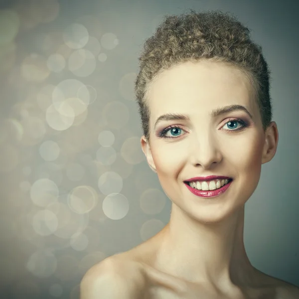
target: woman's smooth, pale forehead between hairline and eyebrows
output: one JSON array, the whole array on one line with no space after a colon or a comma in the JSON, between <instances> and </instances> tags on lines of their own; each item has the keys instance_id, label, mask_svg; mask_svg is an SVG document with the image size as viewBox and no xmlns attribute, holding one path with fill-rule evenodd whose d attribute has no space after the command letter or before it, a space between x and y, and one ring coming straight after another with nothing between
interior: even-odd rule
<instances>
[{"instance_id":1,"label":"woman's smooth, pale forehead between hairline and eyebrows","mask_svg":"<svg viewBox=\"0 0 299 299\"><path fill-rule=\"evenodd\" d=\"M163 71L153 80L148 100L150 122L163 113L208 114L231 104L254 113L253 88L241 71L210 61L185 62Z\"/></svg>"}]
</instances>

